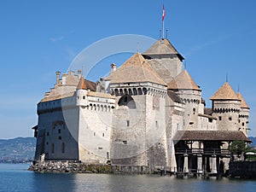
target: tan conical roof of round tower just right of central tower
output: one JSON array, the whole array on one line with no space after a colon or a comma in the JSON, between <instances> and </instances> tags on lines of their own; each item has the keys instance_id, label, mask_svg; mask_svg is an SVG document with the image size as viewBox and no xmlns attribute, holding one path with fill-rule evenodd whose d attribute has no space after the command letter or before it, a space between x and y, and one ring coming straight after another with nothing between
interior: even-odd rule
<instances>
[{"instance_id":1,"label":"tan conical roof of round tower just right of central tower","mask_svg":"<svg viewBox=\"0 0 256 192\"><path fill-rule=\"evenodd\" d=\"M172 79L167 88L168 90L201 90L187 70L184 70Z\"/></svg>"}]
</instances>

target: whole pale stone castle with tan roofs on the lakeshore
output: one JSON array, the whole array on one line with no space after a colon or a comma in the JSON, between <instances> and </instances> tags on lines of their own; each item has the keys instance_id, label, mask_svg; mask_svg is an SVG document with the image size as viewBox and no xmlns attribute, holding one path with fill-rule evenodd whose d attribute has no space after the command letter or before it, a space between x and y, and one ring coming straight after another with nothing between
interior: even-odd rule
<instances>
[{"instance_id":1,"label":"whole pale stone castle with tan roofs on the lakeshore","mask_svg":"<svg viewBox=\"0 0 256 192\"><path fill-rule=\"evenodd\" d=\"M228 169L230 143L249 142L249 107L225 82L205 107L183 56L159 39L94 83L56 73L38 103L35 160L170 167L172 172Z\"/></svg>"}]
</instances>

